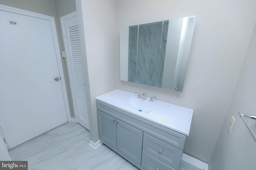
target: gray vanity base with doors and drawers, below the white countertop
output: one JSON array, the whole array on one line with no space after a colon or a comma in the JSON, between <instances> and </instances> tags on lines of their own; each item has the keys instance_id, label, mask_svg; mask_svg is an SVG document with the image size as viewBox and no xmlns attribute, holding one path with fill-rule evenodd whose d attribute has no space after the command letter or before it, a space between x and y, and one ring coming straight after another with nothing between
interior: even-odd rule
<instances>
[{"instance_id":1,"label":"gray vanity base with doors and drawers, below the white countertop","mask_svg":"<svg viewBox=\"0 0 256 170\"><path fill-rule=\"evenodd\" d=\"M96 102L102 145L141 170L179 169L186 135L99 100Z\"/></svg>"}]
</instances>

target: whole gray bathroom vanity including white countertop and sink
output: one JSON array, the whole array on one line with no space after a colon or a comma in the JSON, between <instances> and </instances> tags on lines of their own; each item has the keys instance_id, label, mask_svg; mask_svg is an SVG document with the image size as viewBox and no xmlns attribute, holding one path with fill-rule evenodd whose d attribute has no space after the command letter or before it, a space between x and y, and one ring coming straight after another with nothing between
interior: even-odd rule
<instances>
[{"instance_id":1,"label":"whole gray bathroom vanity including white countertop and sink","mask_svg":"<svg viewBox=\"0 0 256 170\"><path fill-rule=\"evenodd\" d=\"M100 143L139 169L178 170L193 110L114 90L96 98Z\"/></svg>"}]
</instances>

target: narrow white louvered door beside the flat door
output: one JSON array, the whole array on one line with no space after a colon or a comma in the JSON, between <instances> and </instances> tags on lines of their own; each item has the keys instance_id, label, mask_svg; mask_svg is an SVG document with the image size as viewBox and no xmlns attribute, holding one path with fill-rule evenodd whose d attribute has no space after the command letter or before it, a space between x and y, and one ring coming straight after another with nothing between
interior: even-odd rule
<instances>
[{"instance_id":1,"label":"narrow white louvered door beside the flat door","mask_svg":"<svg viewBox=\"0 0 256 170\"><path fill-rule=\"evenodd\" d=\"M72 12L60 19L62 23L65 52L68 61L68 73L74 112L78 123L90 130L76 12Z\"/></svg>"}]
</instances>

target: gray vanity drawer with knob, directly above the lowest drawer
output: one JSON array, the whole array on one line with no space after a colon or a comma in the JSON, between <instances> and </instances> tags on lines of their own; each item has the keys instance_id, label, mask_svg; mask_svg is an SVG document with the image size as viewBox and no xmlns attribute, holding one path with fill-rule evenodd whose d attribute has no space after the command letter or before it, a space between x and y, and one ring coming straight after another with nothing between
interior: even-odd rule
<instances>
[{"instance_id":1,"label":"gray vanity drawer with knob, directly above the lowest drawer","mask_svg":"<svg viewBox=\"0 0 256 170\"><path fill-rule=\"evenodd\" d=\"M182 150L155 137L152 137L147 133L143 134L142 150L175 169L179 169L180 167Z\"/></svg>"}]
</instances>

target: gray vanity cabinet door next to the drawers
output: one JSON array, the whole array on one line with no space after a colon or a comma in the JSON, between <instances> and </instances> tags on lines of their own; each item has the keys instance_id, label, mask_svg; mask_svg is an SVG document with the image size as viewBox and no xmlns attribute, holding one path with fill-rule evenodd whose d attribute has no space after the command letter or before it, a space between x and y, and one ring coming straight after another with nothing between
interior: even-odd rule
<instances>
[{"instance_id":1,"label":"gray vanity cabinet door next to the drawers","mask_svg":"<svg viewBox=\"0 0 256 170\"><path fill-rule=\"evenodd\" d=\"M140 164L143 132L120 120L116 121L117 149Z\"/></svg>"}]
</instances>

